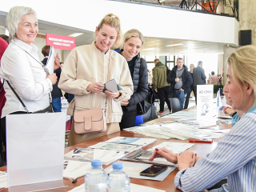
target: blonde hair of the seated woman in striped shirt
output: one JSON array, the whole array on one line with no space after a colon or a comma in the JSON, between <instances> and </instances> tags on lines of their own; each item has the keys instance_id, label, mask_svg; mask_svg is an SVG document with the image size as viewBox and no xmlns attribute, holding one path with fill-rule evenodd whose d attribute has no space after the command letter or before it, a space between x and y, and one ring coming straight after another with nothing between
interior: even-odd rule
<instances>
[{"instance_id":1,"label":"blonde hair of the seated woman in striped shirt","mask_svg":"<svg viewBox=\"0 0 256 192\"><path fill-rule=\"evenodd\" d=\"M228 58L231 74L242 90L242 86L248 83L253 87L256 97L256 46L242 46ZM243 92L242 92L243 94ZM256 100L254 99L254 103Z\"/></svg>"}]
</instances>

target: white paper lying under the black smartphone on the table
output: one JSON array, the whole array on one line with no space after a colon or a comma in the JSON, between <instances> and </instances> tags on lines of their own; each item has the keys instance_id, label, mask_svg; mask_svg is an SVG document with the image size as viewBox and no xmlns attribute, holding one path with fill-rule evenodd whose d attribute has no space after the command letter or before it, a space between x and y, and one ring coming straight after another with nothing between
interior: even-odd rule
<instances>
[{"instance_id":1,"label":"white paper lying under the black smartphone on the table","mask_svg":"<svg viewBox=\"0 0 256 192\"><path fill-rule=\"evenodd\" d=\"M122 170L130 177L130 178L142 178L147 180L154 180L154 181L162 181L164 180L168 174L170 174L175 167L174 166L168 166L167 170L162 172L161 174L158 174L156 177L146 177L146 176L140 176L139 173L142 172L142 170L146 170L148 167L152 166L151 164L143 164L138 162L122 162ZM113 170L112 166L107 167L106 173L110 174Z\"/></svg>"}]
</instances>

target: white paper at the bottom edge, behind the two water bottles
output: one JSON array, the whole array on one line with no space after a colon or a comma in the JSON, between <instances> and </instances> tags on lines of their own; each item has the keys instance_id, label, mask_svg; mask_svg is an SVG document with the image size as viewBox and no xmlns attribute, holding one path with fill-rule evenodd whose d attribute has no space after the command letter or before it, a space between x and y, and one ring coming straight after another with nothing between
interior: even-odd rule
<instances>
[{"instance_id":1,"label":"white paper at the bottom edge, behind the two water bottles","mask_svg":"<svg viewBox=\"0 0 256 192\"><path fill-rule=\"evenodd\" d=\"M149 186L140 186L134 183L130 183L130 191L131 192L165 192L166 190L157 190ZM68 192L86 192L86 186L83 183L81 186L75 187L73 190L69 190Z\"/></svg>"}]
</instances>

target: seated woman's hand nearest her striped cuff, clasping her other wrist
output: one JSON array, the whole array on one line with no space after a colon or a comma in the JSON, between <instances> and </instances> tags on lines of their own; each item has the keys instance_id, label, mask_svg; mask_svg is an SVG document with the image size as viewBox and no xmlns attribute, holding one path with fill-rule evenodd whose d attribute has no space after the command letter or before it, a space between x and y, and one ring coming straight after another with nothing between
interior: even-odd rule
<instances>
[{"instance_id":1,"label":"seated woman's hand nearest her striped cuff, clasping her other wrist","mask_svg":"<svg viewBox=\"0 0 256 192\"><path fill-rule=\"evenodd\" d=\"M179 170L194 166L194 163L196 162L196 157L197 154L194 154L193 152L188 150L182 152L182 154L177 154Z\"/></svg>"}]
</instances>

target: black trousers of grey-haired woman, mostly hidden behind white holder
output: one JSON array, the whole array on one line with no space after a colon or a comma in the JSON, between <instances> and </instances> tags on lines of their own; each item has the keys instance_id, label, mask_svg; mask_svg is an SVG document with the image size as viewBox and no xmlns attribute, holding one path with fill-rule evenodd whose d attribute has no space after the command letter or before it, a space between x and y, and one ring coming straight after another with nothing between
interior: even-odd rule
<instances>
[{"instance_id":1,"label":"black trousers of grey-haired woman, mostly hidden behind white holder","mask_svg":"<svg viewBox=\"0 0 256 192\"><path fill-rule=\"evenodd\" d=\"M12 114L26 114L25 111L17 111ZM1 154L1 161L0 166L4 166L2 162L2 144L6 148L6 117L1 118L1 130L0 130L0 154ZM6 150L7 151L7 150Z\"/></svg>"}]
</instances>

